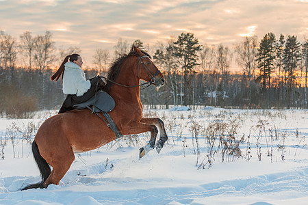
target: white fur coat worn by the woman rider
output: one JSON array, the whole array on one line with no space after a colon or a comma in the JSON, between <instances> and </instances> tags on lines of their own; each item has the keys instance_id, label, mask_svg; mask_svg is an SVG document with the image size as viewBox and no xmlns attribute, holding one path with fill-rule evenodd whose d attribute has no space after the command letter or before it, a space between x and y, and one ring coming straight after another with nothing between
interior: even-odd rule
<instances>
[{"instance_id":1,"label":"white fur coat worn by the woman rider","mask_svg":"<svg viewBox=\"0 0 308 205\"><path fill-rule=\"evenodd\" d=\"M69 61L64 64L63 74L63 93L64 94L76 94L76 96L82 96L87 92L90 87L90 81L86 80L86 74L84 70L77 64Z\"/></svg>"}]
</instances>

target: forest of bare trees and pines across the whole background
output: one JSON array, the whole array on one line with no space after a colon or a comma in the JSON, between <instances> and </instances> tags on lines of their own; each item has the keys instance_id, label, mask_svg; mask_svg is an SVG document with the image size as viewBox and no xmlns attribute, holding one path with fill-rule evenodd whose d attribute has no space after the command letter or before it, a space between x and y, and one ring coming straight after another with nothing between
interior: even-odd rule
<instances>
[{"instance_id":1,"label":"forest of bare trees and pines across the whole background","mask_svg":"<svg viewBox=\"0 0 308 205\"><path fill-rule=\"evenodd\" d=\"M57 48L53 33L18 38L0 30L0 114L27 118L32 111L59 109L65 98L61 81L49 80L62 59L81 53L78 47ZM86 78L106 76L112 62L129 53L131 45L149 53L166 78L166 85L141 90L151 108L172 105L241 109L307 109L308 39L266 33L246 36L233 46L199 44L194 33L159 42L118 39L114 51L96 49ZM231 71L231 65L238 71Z\"/></svg>"}]
</instances>

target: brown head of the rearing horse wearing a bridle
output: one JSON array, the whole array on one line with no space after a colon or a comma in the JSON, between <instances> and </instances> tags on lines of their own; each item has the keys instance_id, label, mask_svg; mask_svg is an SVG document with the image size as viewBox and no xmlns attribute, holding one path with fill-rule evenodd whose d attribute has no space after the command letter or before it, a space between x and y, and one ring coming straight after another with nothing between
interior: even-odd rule
<instances>
[{"instance_id":1,"label":"brown head of the rearing horse wearing a bridle","mask_svg":"<svg viewBox=\"0 0 308 205\"><path fill-rule=\"evenodd\" d=\"M149 55L142 53L136 46L133 46L133 50L138 54L138 68L136 70L138 79L150 82L155 87L164 85L164 75L158 70Z\"/></svg>"}]
</instances>

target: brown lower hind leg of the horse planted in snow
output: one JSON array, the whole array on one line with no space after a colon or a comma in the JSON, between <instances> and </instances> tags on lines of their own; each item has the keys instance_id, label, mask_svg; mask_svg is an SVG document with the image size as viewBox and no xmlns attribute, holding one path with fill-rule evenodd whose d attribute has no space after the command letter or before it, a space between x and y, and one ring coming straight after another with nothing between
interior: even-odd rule
<instances>
[{"instance_id":1,"label":"brown lower hind leg of the horse planted in snow","mask_svg":"<svg viewBox=\"0 0 308 205\"><path fill-rule=\"evenodd\" d=\"M53 159L51 159L51 162L49 163L51 167L53 167L53 170L44 182L44 187L48 187L49 184L58 185L74 160L75 155L73 150L62 154L54 153Z\"/></svg>"}]
</instances>

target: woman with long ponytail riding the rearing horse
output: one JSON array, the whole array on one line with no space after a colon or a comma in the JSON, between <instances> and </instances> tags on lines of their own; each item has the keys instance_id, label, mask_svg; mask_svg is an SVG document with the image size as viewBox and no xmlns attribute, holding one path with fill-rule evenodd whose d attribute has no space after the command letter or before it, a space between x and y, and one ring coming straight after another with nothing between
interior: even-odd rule
<instances>
[{"instance_id":1,"label":"woman with long ponytail riding the rearing horse","mask_svg":"<svg viewBox=\"0 0 308 205\"><path fill-rule=\"evenodd\" d=\"M76 53L68 55L57 72L50 78L51 81L57 81L62 77L62 90L67 95L59 113L72 110L73 105L88 100L97 91L99 76L86 80L86 74L81 69L82 64L80 55Z\"/></svg>"}]
</instances>

